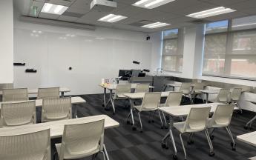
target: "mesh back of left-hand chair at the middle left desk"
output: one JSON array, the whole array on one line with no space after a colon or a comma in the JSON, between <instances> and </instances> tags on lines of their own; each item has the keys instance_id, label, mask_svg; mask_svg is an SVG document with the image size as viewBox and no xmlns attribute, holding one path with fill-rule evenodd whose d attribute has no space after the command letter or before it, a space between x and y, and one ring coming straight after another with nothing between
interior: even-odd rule
<instances>
[{"instance_id":1,"label":"mesh back of left-hand chair at the middle left desk","mask_svg":"<svg viewBox=\"0 0 256 160\"><path fill-rule=\"evenodd\" d=\"M1 124L13 127L36 123L36 101L1 104Z\"/></svg>"}]
</instances>

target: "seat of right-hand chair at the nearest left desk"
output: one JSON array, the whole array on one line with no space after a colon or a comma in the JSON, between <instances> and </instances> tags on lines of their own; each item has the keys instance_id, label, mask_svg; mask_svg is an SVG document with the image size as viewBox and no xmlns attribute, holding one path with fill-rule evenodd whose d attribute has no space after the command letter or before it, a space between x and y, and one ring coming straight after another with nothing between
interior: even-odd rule
<instances>
[{"instance_id":1,"label":"seat of right-hand chair at the nearest left desk","mask_svg":"<svg viewBox=\"0 0 256 160\"><path fill-rule=\"evenodd\" d=\"M61 148L62 144L61 143L55 144L55 146L56 146L57 153L59 155L60 154L60 148ZM100 150L100 147L98 146L98 147L96 147L96 149L85 150L83 153L80 153L80 154L76 153L75 156L70 154L69 152L65 151L64 159L80 159L80 158L84 158L86 156L91 156L91 155L93 155L95 153L98 153L99 150Z\"/></svg>"}]
</instances>

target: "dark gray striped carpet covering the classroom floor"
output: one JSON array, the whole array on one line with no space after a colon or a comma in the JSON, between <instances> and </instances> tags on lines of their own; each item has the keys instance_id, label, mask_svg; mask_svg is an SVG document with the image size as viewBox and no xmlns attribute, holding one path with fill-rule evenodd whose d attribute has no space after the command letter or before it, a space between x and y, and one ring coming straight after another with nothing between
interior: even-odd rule
<instances>
[{"instance_id":1,"label":"dark gray striped carpet covering the classroom floor","mask_svg":"<svg viewBox=\"0 0 256 160\"><path fill-rule=\"evenodd\" d=\"M167 129L160 129L160 119L155 116L155 122L148 123L148 113L142 113L143 133L139 130L131 130L131 125L126 124L126 116L128 116L129 109L125 107L123 101L116 102L116 115L112 115L112 110L106 111L102 107L102 95L85 95L82 96L87 101L86 104L80 104L78 107L78 116L93 116L99 114L106 114L120 123L119 127L105 130L105 146L111 160L167 160L172 159L174 153L171 143L169 149L161 147L161 139L168 132ZM185 102L186 103L186 102ZM200 103L200 101L196 101ZM251 132L251 130L244 130L243 125L254 116L253 113L244 112L243 115L234 113L232 118L231 130L233 136ZM135 115L137 126L139 121ZM177 119L178 121L178 119ZM255 130L256 126L253 126ZM252 156L256 156L256 147L236 141L237 150L233 151L230 146L231 140L226 130L219 129L214 131L214 157L210 157L209 145L206 136L203 133L194 134L194 144L188 145L186 139L188 135L183 136L185 141L188 159L190 160L243 160ZM183 149L180 143L177 130L174 130L174 139L177 144L178 159L184 159ZM90 158L91 159L91 158ZM97 159L102 159L99 154Z\"/></svg>"}]
</instances>

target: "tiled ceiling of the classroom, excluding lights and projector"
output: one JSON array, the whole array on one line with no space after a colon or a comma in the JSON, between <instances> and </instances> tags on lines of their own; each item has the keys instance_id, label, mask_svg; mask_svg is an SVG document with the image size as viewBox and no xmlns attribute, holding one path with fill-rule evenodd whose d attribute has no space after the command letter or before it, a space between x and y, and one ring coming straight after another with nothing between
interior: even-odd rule
<instances>
[{"instance_id":1,"label":"tiled ceiling of the classroom, excluding lights and projector","mask_svg":"<svg viewBox=\"0 0 256 160\"><path fill-rule=\"evenodd\" d=\"M70 21L75 23L93 24L96 26L114 27L142 32L155 32L158 30L166 30L191 25L193 24L191 21L196 19L186 17L186 15L201 10L208 10L213 7L230 7L237 10L237 12L226 13L220 16L212 16L203 20L218 21L223 19L256 15L256 0L176 0L151 10L141 7L134 7L131 5L137 1L139 0L116 0L117 8L108 13L90 10L91 0L15 0L14 5L19 9L23 16L33 16L31 7L37 6L39 12L36 13L36 17L42 19ZM45 2L61 4L68 6L69 8L65 13L63 13L62 16L53 15L50 13L40 13ZM109 13L127 16L128 18L123 19L122 21L116 21L115 23L97 21ZM170 23L171 26L147 29L132 25L142 20Z\"/></svg>"}]
</instances>

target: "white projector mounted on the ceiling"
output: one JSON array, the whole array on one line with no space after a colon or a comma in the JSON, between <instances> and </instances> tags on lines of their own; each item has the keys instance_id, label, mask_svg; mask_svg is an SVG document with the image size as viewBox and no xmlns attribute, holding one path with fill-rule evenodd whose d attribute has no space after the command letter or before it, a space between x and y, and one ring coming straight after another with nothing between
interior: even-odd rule
<instances>
[{"instance_id":1,"label":"white projector mounted on the ceiling","mask_svg":"<svg viewBox=\"0 0 256 160\"><path fill-rule=\"evenodd\" d=\"M113 0L93 0L91 1L91 10L99 12L109 12L116 8L116 1Z\"/></svg>"}]
</instances>

